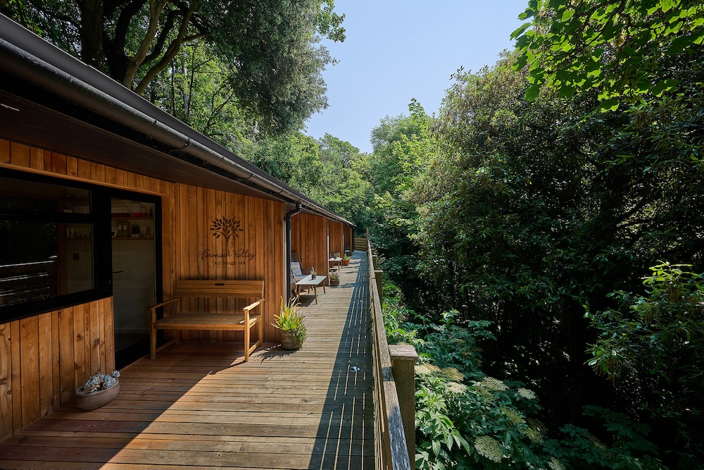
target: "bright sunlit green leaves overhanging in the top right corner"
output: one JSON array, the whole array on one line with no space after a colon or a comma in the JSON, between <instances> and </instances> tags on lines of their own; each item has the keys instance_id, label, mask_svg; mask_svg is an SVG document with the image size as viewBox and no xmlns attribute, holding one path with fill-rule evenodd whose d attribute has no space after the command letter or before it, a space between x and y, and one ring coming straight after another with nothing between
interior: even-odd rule
<instances>
[{"instance_id":1,"label":"bright sunlit green leaves overhanging in the top right corner","mask_svg":"<svg viewBox=\"0 0 704 470\"><path fill-rule=\"evenodd\" d=\"M679 91L661 63L697 60L704 39L704 4L698 0L534 0L513 32L527 68L532 101L541 87L560 97L596 89L602 110L620 101Z\"/></svg>"}]
</instances>

